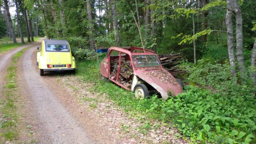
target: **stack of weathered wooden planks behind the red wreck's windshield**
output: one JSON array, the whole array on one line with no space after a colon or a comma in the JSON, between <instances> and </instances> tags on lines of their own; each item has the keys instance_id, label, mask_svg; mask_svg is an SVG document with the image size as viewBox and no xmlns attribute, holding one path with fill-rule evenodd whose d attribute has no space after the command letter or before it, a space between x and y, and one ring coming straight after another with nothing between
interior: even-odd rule
<instances>
[{"instance_id":1,"label":"stack of weathered wooden planks behind the red wreck's windshield","mask_svg":"<svg viewBox=\"0 0 256 144\"><path fill-rule=\"evenodd\" d=\"M180 53L177 54L159 54L157 55L160 63L163 68L170 72L172 75L176 75L177 73L186 72L182 70L177 65L180 64L183 58L180 56Z\"/></svg>"}]
</instances>

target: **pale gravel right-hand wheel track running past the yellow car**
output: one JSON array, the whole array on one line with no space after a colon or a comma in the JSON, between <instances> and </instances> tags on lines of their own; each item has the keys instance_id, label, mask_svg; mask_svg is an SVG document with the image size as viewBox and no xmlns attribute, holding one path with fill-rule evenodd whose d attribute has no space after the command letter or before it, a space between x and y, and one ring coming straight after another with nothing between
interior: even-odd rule
<instances>
[{"instance_id":1,"label":"pale gravel right-hand wheel track running past the yellow car","mask_svg":"<svg viewBox=\"0 0 256 144\"><path fill-rule=\"evenodd\" d=\"M35 112L41 124L44 124L42 142L58 144L95 143L87 136L72 114L56 98L52 91L62 91L55 87L48 87L35 68L36 61L32 60L35 49L39 44L24 52L22 57L21 77L26 86L26 94L32 99Z\"/></svg>"}]
</instances>

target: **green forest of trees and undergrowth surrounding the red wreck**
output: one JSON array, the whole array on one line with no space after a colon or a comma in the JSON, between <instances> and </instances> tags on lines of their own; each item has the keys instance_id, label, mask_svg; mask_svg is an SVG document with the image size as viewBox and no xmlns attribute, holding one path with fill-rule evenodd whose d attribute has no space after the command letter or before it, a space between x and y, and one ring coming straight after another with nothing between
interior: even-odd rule
<instances>
[{"instance_id":1,"label":"green forest of trees and undergrowth surrounding the red wreck","mask_svg":"<svg viewBox=\"0 0 256 144\"><path fill-rule=\"evenodd\" d=\"M96 69L102 54L95 49L110 46L181 53L182 94L167 101L113 100L169 122L192 143L256 142L255 0L0 0L0 6L0 39L67 40L81 68ZM106 92L103 87L95 89Z\"/></svg>"}]
</instances>

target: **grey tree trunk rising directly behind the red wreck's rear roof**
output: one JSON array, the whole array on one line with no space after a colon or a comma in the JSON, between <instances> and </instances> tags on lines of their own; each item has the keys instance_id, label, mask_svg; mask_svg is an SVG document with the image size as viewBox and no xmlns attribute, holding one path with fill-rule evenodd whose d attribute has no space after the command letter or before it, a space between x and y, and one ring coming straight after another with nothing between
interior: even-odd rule
<instances>
[{"instance_id":1,"label":"grey tree trunk rising directly behind the red wreck's rear roof","mask_svg":"<svg viewBox=\"0 0 256 144\"><path fill-rule=\"evenodd\" d=\"M120 46L115 0L111 0L111 8L112 8L113 28L115 33L115 42L116 42L116 46Z\"/></svg>"}]
</instances>

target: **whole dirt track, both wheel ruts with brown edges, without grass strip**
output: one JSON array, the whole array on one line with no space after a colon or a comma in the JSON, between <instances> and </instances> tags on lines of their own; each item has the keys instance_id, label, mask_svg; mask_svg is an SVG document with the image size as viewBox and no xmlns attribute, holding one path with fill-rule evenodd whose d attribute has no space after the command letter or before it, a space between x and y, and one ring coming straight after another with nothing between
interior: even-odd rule
<instances>
[{"instance_id":1,"label":"whole dirt track, both wheel ruts with brown edges, without grass strip","mask_svg":"<svg viewBox=\"0 0 256 144\"><path fill-rule=\"evenodd\" d=\"M1 63L5 65L0 67L0 90L2 91L3 77L12 56L21 49L29 47L20 58L17 69L19 93L25 105L21 113L24 115L22 121L26 124L21 125L31 126L34 132L32 136L40 144L120 143L116 138L106 135L96 123L86 125L89 117L84 117L85 115L81 115L80 112L77 112L80 114L77 115L79 103L75 100L76 98L71 99L69 93L57 84L56 74L43 77L39 75L35 55L36 48L40 44L27 44L0 56ZM95 132L95 129L98 129L99 133ZM23 139L21 141L28 142L26 134L22 132L20 138Z\"/></svg>"}]
</instances>

